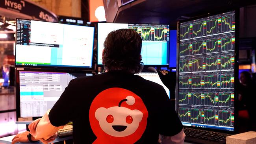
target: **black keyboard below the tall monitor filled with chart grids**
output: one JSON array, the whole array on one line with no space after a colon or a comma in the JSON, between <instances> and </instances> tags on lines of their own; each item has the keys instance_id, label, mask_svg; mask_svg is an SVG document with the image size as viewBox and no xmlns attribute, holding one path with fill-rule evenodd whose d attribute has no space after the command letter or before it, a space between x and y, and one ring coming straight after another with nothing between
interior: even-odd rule
<instances>
[{"instance_id":1,"label":"black keyboard below the tall monitor filled with chart grids","mask_svg":"<svg viewBox=\"0 0 256 144\"><path fill-rule=\"evenodd\" d=\"M226 144L226 137L230 136L225 133L206 131L184 127L186 134L185 141L196 142L199 144Z\"/></svg>"}]
</instances>

